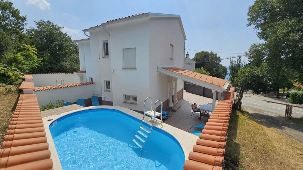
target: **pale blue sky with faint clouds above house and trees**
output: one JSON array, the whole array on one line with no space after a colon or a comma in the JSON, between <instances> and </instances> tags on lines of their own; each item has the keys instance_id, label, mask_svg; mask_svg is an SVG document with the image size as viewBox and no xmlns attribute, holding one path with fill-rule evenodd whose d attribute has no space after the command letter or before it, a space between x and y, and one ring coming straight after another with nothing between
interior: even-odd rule
<instances>
[{"instance_id":1,"label":"pale blue sky with faint clouds above house and trees","mask_svg":"<svg viewBox=\"0 0 303 170\"><path fill-rule=\"evenodd\" d=\"M27 16L27 27L34 20L51 20L65 27L72 39L87 38L82 30L108 20L143 12L179 14L187 37L185 50L190 58L197 51L217 52L222 59L248 51L252 43L261 42L253 27L247 27L247 10L253 0L11 0ZM223 52L223 53L218 53ZM243 55L243 54L240 54ZM242 59L246 60L245 57ZM229 65L229 59L221 64Z\"/></svg>"}]
</instances>

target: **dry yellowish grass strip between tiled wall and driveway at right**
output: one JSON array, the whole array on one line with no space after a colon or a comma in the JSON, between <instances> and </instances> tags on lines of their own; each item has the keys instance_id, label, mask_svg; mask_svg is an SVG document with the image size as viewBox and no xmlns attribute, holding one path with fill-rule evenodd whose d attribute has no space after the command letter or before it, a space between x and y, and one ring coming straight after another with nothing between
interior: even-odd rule
<instances>
[{"instance_id":1,"label":"dry yellowish grass strip between tiled wall and driveway at right","mask_svg":"<svg viewBox=\"0 0 303 170\"><path fill-rule=\"evenodd\" d=\"M303 143L233 111L228 129L225 169L303 169Z\"/></svg>"}]
</instances>

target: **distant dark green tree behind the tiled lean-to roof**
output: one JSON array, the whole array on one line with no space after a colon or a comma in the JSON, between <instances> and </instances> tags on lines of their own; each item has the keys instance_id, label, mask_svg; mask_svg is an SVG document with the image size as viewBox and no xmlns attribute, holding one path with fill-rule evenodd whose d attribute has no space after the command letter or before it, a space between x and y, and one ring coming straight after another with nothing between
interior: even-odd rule
<instances>
[{"instance_id":1,"label":"distant dark green tree behind the tiled lean-to roof","mask_svg":"<svg viewBox=\"0 0 303 170\"><path fill-rule=\"evenodd\" d=\"M220 64L221 58L217 54L201 51L195 54L193 60L196 62L196 68L204 68L211 76L225 79L227 68Z\"/></svg>"}]
</instances>

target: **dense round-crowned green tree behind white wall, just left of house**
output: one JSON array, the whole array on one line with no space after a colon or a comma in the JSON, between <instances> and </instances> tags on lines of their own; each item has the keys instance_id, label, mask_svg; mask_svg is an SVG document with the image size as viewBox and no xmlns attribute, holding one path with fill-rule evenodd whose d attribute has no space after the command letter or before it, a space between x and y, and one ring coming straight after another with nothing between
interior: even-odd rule
<instances>
[{"instance_id":1,"label":"dense round-crowned green tree behind white wall, just left of house","mask_svg":"<svg viewBox=\"0 0 303 170\"><path fill-rule=\"evenodd\" d=\"M38 73L43 72L75 72L79 70L78 48L72 42L70 36L63 33L63 27L52 23L51 21L35 21L36 27L30 27L26 30L31 38L31 44L35 44L38 52L38 58L42 59L42 67ZM75 67L72 67L75 66Z\"/></svg>"}]
</instances>

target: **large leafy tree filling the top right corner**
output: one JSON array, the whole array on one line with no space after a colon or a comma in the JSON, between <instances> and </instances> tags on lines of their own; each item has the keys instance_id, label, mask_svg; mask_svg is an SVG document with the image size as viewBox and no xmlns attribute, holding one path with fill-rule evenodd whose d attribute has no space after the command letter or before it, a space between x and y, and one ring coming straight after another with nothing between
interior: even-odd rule
<instances>
[{"instance_id":1,"label":"large leafy tree filling the top right corner","mask_svg":"<svg viewBox=\"0 0 303 170\"><path fill-rule=\"evenodd\" d=\"M303 82L303 1L256 0L248 9L248 26L254 29L267 50L266 63L276 69L299 73Z\"/></svg>"}]
</instances>

